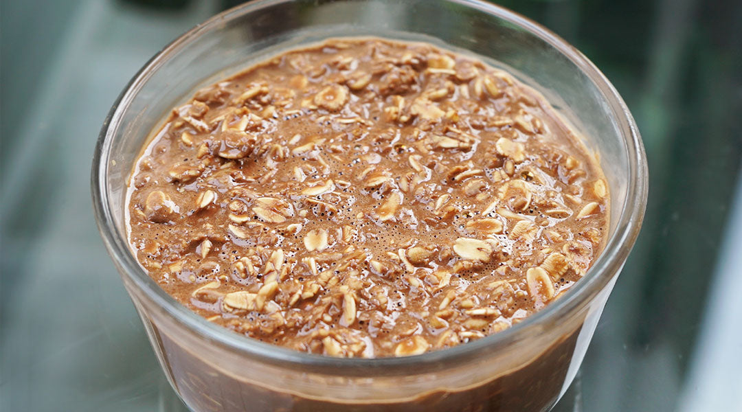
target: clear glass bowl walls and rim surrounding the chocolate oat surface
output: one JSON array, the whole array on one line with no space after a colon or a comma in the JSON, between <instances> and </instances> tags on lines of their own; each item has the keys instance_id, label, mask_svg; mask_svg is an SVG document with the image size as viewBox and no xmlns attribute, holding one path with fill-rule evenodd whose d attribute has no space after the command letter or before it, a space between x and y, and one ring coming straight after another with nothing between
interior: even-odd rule
<instances>
[{"instance_id":1,"label":"clear glass bowl walls and rim surrounding the chocolate oat surface","mask_svg":"<svg viewBox=\"0 0 742 412\"><path fill-rule=\"evenodd\" d=\"M168 110L282 50L330 37L428 41L539 90L597 153L611 191L608 242L568 293L508 330L418 356L337 359L258 342L168 296L128 246L134 162ZM96 221L162 369L193 411L545 411L580 367L640 230L647 196L631 113L597 68L554 33L480 1L266 0L194 27L139 70L105 119L92 172Z\"/></svg>"}]
</instances>

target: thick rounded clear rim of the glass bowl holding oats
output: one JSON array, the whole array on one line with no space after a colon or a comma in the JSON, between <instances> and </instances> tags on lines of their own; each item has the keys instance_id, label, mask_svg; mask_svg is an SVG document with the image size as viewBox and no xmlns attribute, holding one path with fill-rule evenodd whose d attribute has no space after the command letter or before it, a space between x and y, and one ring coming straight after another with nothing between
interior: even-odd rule
<instances>
[{"instance_id":1,"label":"thick rounded clear rim of the glass bowl holding oats","mask_svg":"<svg viewBox=\"0 0 742 412\"><path fill-rule=\"evenodd\" d=\"M605 285L612 279L614 273L618 273L626 262L626 257L634 246L634 242L640 231L641 222L646 207L648 193L648 170L646 155L637 125L631 113L623 102L613 85L608 82L603 73L590 62L580 51L568 44L551 30L531 21L524 16L507 10L494 4L487 4L479 0L439 0L439 3L453 3L464 7L478 10L496 16L499 19L510 22L517 27L528 30L531 34L539 37L552 47L559 50L568 59L591 79L591 82L600 90L608 102L611 112L615 117L618 128L623 136L624 149L628 158L628 186L626 199L623 202L616 229L608 242L605 244L603 253L594 262L585 276L577 282L568 293L560 299L547 305L544 309L528 316L523 322L513 325L493 335L485 336L474 342L456 345L453 348L436 350L416 356L387 357L375 359L360 358L334 358L330 356L303 353L298 350L283 348L260 342L247 336L234 333L232 330L214 325L196 313L192 312L180 302L172 298L165 290L162 290L157 282L145 273L145 270L134 258L134 254L128 245L128 240L120 236L115 230L114 213L111 210L108 194L108 165L110 164L111 145L120 127L123 113L126 112L131 100L137 91L149 79L151 73L160 67L173 53L188 47L188 44L197 39L202 33L206 33L215 27L224 24L225 21L238 19L248 13L254 13L266 7L275 7L286 4L292 0L257 0L226 10L211 19L198 24L178 37L171 44L164 47L160 53L153 56L125 87L118 99L111 107L108 116L103 123L96 150L93 156L92 167L92 195L93 209L99 232L112 259L122 270L122 276L126 276L137 288L142 290L148 299L151 299L162 310L182 324L185 328L209 339L211 342L219 343L223 347L236 350L244 356L257 359L258 362L269 362L278 365L293 364L303 368L311 367L318 373L332 373L334 375L356 375L368 374L374 371L375 375L393 375L398 373L409 374L411 371L422 373L443 368L443 362L464 361L476 356L482 350L492 350L513 342L518 342L528 333L534 333L542 325L554 322L558 316L571 313L584 307ZM414 369L410 369L414 368Z\"/></svg>"}]
</instances>

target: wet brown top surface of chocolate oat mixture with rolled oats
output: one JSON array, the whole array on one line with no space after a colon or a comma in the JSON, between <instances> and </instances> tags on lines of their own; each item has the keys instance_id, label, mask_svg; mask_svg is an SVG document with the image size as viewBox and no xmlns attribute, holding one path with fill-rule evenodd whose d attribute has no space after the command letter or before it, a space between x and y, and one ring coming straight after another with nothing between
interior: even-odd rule
<instances>
[{"instance_id":1,"label":"wet brown top surface of chocolate oat mixture with rolled oats","mask_svg":"<svg viewBox=\"0 0 742 412\"><path fill-rule=\"evenodd\" d=\"M542 96L430 44L335 39L199 90L131 180L137 259L226 328L405 356L510 327L577 282L603 173Z\"/></svg>"}]
</instances>

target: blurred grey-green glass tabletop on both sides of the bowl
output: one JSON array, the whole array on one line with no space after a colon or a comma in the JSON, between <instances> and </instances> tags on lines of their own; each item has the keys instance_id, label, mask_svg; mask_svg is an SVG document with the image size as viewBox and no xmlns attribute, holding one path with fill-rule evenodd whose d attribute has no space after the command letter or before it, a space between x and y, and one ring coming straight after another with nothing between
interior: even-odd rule
<instances>
[{"instance_id":1,"label":"blurred grey-green glass tabletop on both sides of the bowl","mask_svg":"<svg viewBox=\"0 0 742 412\"><path fill-rule=\"evenodd\" d=\"M650 168L640 239L555 411L742 411L742 3L512 0L611 79ZM0 3L0 411L185 411L93 222L131 76L232 1Z\"/></svg>"}]
</instances>

